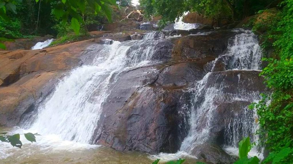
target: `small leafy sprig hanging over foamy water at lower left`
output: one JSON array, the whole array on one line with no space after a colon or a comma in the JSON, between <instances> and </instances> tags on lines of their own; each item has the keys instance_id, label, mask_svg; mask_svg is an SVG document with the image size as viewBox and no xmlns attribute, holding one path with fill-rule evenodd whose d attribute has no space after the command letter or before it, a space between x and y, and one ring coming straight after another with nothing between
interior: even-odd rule
<instances>
[{"instance_id":1,"label":"small leafy sprig hanging over foamy water at lower left","mask_svg":"<svg viewBox=\"0 0 293 164\"><path fill-rule=\"evenodd\" d=\"M0 133L0 141L1 142L8 142L10 143L13 147L18 147L21 148L22 142L20 141L20 134L14 134L14 135L6 135L7 132L2 132ZM38 133L25 133L23 134L25 138L30 141L30 142L36 142L36 135L39 135Z\"/></svg>"}]
</instances>

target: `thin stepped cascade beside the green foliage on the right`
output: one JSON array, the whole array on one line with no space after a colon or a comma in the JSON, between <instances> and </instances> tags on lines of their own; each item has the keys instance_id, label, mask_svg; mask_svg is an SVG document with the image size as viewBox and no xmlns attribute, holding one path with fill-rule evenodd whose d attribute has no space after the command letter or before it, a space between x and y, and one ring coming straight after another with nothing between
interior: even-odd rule
<instances>
[{"instance_id":1,"label":"thin stepped cascade beside the green foliage on the right","mask_svg":"<svg viewBox=\"0 0 293 164\"><path fill-rule=\"evenodd\" d=\"M260 69L262 53L258 45L257 36L251 31L242 30L242 32L230 39L227 52L216 59L213 64L217 60L223 57L227 59L227 56L229 56L228 60L224 61L228 70ZM197 87L194 88L193 109L190 116L191 128L181 145L180 151L191 153L195 146L207 141L212 128L211 122L214 118L215 109L217 109L218 104L221 102L253 102L260 99L259 93L246 93L242 90L239 90L237 94L227 95L224 93L224 89L227 86L223 82L219 85L207 86L211 74L212 72L207 73L201 81L197 82ZM238 78L240 81L240 74L238 74ZM213 102L217 102L217 104ZM243 111L245 114L231 120L229 127L225 129L225 140L227 141L225 146L232 147L234 150L237 150L238 143L243 136L255 136L252 137L252 141L255 142L257 140L257 135L254 135L258 128L255 123L257 114L255 111L252 111L253 114L251 114L247 106L243 107Z\"/></svg>"}]
</instances>

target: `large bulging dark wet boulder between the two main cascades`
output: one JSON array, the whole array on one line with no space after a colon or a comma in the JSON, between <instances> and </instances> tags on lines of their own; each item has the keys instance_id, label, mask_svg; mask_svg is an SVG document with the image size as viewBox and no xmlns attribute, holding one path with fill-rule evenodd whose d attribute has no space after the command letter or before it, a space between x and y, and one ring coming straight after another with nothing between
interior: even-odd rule
<instances>
[{"instance_id":1,"label":"large bulging dark wet boulder between the two main cascades","mask_svg":"<svg viewBox=\"0 0 293 164\"><path fill-rule=\"evenodd\" d=\"M154 85L163 69L142 67L120 73L109 103L103 106L94 143L149 153L179 149L188 132L184 106L190 95L182 90L185 86Z\"/></svg>"}]
</instances>

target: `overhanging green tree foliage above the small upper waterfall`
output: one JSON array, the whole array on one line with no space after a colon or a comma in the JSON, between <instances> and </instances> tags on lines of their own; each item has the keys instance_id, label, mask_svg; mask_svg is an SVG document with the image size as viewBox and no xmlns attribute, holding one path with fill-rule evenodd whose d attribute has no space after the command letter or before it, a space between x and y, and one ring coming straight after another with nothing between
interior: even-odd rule
<instances>
[{"instance_id":1,"label":"overhanging green tree foliage above the small upper waterfall","mask_svg":"<svg viewBox=\"0 0 293 164\"><path fill-rule=\"evenodd\" d=\"M160 26L174 22L185 11L195 11L213 18L221 24L222 20L240 20L254 14L273 0L140 0L146 18L161 15Z\"/></svg>"}]
</instances>

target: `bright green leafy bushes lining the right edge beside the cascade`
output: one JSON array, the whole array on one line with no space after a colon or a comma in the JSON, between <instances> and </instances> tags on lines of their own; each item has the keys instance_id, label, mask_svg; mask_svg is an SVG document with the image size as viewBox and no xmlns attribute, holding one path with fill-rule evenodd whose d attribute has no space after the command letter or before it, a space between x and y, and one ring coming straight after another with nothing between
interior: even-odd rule
<instances>
[{"instance_id":1,"label":"bright green leafy bushes lining the right edge beside the cascade","mask_svg":"<svg viewBox=\"0 0 293 164\"><path fill-rule=\"evenodd\" d=\"M265 50L274 50L265 54L268 65L260 74L272 94L262 94L262 100L251 105L259 116L260 142L271 152L286 151L283 147L293 138L293 0L283 1L279 11L254 23L253 31L260 34ZM293 153L276 163L293 163Z\"/></svg>"}]
</instances>

